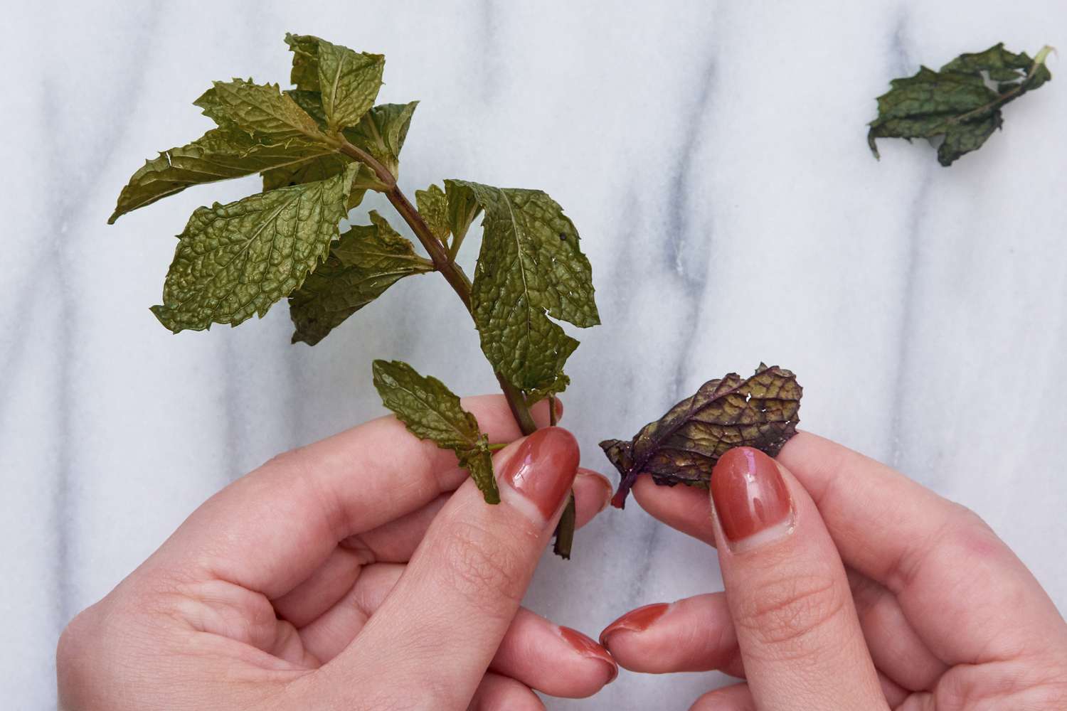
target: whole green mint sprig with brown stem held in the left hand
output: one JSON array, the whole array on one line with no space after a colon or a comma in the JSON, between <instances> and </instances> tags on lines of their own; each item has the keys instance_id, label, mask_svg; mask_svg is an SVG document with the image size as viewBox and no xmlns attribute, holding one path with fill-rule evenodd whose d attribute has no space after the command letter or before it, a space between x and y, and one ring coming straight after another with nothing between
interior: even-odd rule
<instances>
[{"instance_id":1,"label":"whole green mint sprig with brown stem held in the left hand","mask_svg":"<svg viewBox=\"0 0 1067 711\"><path fill-rule=\"evenodd\" d=\"M293 88L234 79L196 101L217 128L146 161L122 190L109 223L201 183L262 176L262 192L193 212L153 307L174 333L236 326L288 298L293 342L314 345L400 279L437 272L471 312L482 352L525 434L529 406L561 391L578 342L556 321L600 323L589 261L562 209L536 190L445 180L416 192L397 184L417 101L375 106L385 59L310 35L286 35ZM385 195L427 257L376 212L339 232L366 191ZM471 279L456 262L479 215L483 239ZM456 452L485 500L499 501L492 448L444 384L400 361L375 361L384 404L416 436ZM570 556L573 497L556 536Z\"/></svg>"}]
</instances>

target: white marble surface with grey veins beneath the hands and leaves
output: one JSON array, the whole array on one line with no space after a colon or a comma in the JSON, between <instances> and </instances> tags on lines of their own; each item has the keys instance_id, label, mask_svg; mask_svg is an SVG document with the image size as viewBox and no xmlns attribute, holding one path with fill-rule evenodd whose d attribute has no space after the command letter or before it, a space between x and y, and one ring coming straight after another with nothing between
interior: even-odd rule
<instances>
[{"instance_id":1,"label":"white marble surface with grey veins beneath the hands and leaves","mask_svg":"<svg viewBox=\"0 0 1067 711\"><path fill-rule=\"evenodd\" d=\"M566 398L586 465L607 471L599 439L706 377L777 362L805 386L802 426L975 508L1067 608L1067 84L1053 59L1056 80L949 169L927 145L886 141L876 162L864 144L889 78L998 41L1067 46L1067 5L299 4L3 12L4 708L53 706L63 625L203 499L381 414L372 358L493 389L431 278L315 349L289 345L284 307L178 337L148 312L188 214L255 180L108 227L115 195L145 157L202 132L189 102L210 79L284 80L286 30L383 52L382 98L421 99L404 188L537 187L574 220L604 320L579 335ZM546 556L528 603L595 633L718 585L713 551L632 505L580 532L570 564ZM685 708L720 681L623 672L590 701L550 707Z\"/></svg>"}]
</instances>

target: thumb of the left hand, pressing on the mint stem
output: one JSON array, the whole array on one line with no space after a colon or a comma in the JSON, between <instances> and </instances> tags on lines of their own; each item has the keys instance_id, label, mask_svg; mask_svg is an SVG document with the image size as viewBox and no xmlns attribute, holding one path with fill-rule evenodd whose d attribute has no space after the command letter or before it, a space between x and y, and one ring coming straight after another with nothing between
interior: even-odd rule
<instances>
[{"instance_id":1,"label":"thumb of the left hand, pressing on the mint stem","mask_svg":"<svg viewBox=\"0 0 1067 711\"><path fill-rule=\"evenodd\" d=\"M526 592L578 466L574 436L545 427L496 454L500 503L466 481L333 672L403 690L412 708L466 708ZM331 684L332 685L332 684ZM366 689L347 684L366 701Z\"/></svg>"}]
</instances>

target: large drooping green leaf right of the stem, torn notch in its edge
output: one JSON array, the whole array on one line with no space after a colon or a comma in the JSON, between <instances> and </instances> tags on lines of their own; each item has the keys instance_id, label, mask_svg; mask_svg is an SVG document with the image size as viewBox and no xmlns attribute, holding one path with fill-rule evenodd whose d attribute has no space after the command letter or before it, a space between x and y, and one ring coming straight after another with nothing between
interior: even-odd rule
<instances>
[{"instance_id":1,"label":"large drooping green leaf right of the stem, torn notch in its edge","mask_svg":"<svg viewBox=\"0 0 1067 711\"><path fill-rule=\"evenodd\" d=\"M580 327L600 323L577 230L538 190L446 180L445 191L449 215L459 215L453 233L477 214L472 206L485 213L471 292L482 351L524 392L552 388L578 342L548 317Z\"/></svg>"}]
</instances>

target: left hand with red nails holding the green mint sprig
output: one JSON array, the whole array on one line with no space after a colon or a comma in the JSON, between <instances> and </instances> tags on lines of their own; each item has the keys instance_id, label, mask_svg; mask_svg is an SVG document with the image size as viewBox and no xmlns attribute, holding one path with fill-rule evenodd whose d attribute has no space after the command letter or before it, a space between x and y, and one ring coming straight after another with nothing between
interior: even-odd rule
<instances>
[{"instance_id":1,"label":"left hand with red nails holding the green mint sprig","mask_svg":"<svg viewBox=\"0 0 1067 711\"><path fill-rule=\"evenodd\" d=\"M491 441L520 436L503 398L464 407ZM595 693L611 658L519 604L572 482L578 526L610 497L577 464L558 427L512 442L491 506L392 417L275 457L70 623L61 708L541 709L530 689Z\"/></svg>"}]
</instances>

